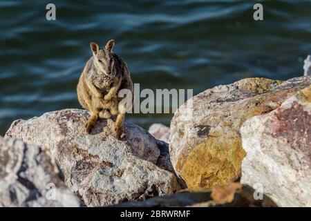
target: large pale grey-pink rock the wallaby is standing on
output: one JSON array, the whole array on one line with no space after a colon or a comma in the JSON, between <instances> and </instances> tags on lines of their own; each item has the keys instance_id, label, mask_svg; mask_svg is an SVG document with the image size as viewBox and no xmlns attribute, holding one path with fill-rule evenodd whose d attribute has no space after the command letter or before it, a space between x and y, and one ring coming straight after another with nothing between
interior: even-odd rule
<instances>
[{"instance_id":1,"label":"large pale grey-pink rock the wallaby is standing on","mask_svg":"<svg viewBox=\"0 0 311 221\"><path fill-rule=\"evenodd\" d=\"M114 137L112 119L86 133L87 111L66 109L12 123L6 136L47 148L64 173L67 186L86 206L106 206L171 194L176 177L157 162L161 151L147 131L125 123L125 140Z\"/></svg>"}]
</instances>

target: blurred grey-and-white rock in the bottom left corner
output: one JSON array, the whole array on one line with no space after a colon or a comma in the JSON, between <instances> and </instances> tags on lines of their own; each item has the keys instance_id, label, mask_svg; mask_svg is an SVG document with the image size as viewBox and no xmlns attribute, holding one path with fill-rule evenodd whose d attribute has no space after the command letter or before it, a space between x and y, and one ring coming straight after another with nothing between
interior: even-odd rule
<instances>
[{"instance_id":1,"label":"blurred grey-and-white rock in the bottom left corner","mask_svg":"<svg viewBox=\"0 0 311 221\"><path fill-rule=\"evenodd\" d=\"M38 146L0 137L0 206L79 206Z\"/></svg>"}]
</instances>

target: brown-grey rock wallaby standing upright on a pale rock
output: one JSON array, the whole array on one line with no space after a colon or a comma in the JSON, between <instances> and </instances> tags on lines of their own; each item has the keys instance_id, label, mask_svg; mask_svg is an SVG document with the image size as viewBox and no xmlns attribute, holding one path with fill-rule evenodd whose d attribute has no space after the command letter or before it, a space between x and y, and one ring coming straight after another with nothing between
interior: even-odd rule
<instances>
[{"instance_id":1,"label":"brown-grey rock wallaby standing upright on a pale rock","mask_svg":"<svg viewBox=\"0 0 311 221\"><path fill-rule=\"evenodd\" d=\"M79 77L77 97L83 108L91 112L86 123L86 131L91 133L97 119L115 119L115 137L123 137L125 112L131 108L133 102L133 82L125 62L112 52L115 41L111 39L104 48L91 42L93 56L88 59L86 66ZM131 102L121 105L122 97L118 93L122 89L129 89ZM120 104L120 105L119 105Z\"/></svg>"}]
</instances>

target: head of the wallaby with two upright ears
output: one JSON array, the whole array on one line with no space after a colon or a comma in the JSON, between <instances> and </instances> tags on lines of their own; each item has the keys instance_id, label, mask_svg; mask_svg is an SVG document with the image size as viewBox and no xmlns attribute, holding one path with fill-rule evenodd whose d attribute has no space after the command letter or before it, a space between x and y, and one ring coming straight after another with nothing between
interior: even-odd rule
<instances>
[{"instance_id":1,"label":"head of the wallaby with two upright ears","mask_svg":"<svg viewBox=\"0 0 311 221\"><path fill-rule=\"evenodd\" d=\"M113 39L109 40L104 48L100 48L95 42L90 43L94 57L93 63L97 69L97 73L102 75L112 74L115 66L112 52L113 46L115 46L115 40Z\"/></svg>"}]
</instances>

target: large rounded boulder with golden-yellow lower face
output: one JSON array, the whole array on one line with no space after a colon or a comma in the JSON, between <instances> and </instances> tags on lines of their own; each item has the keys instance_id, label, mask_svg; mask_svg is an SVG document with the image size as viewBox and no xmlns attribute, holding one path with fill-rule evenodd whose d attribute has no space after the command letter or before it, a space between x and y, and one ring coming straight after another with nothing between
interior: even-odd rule
<instances>
[{"instance_id":1,"label":"large rounded boulder with golden-yellow lower face","mask_svg":"<svg viewBox=\"0 0 311 221\"><path fill-rule=\"evenodd\" d=\"M216 86L180 106L171 121L170 155L177 173L191 187L213 187L241 176L245 157L240 126L268 113L311 84L311 77L288 81L249 78Z\"/></svg>"}]
</instances>

